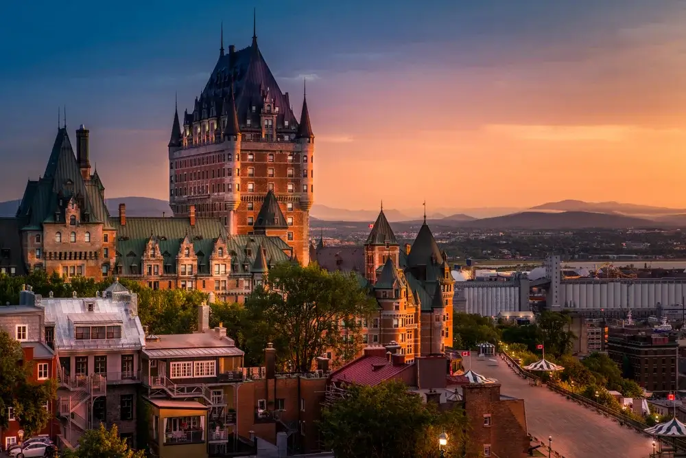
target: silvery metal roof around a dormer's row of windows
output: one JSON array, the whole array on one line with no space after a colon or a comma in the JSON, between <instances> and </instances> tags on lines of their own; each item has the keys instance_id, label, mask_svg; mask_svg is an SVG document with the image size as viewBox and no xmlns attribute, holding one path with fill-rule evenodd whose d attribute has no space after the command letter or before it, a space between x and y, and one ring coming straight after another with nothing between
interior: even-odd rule
<instances>
[{"instance_id":1,"label":"silvery metal roof around a dormer's row of windows","mask_svg":"<svg viewBox=\"0 0 686 458\"><path fill-rule=\"evenodd\" d=\"M93 312L88 312L87 303L93 303ZM131 348L140 350L145 345L145 332L138 316L128 310L128 301L109 297L57 298L44 297L45 322L55 325L55 349L69 350L121 350ZM95 315L103 319L121 322L121 339L76 340L74 321L98 323ZM102 322L102 321L100 321Z\"/></svg>"}]
</instances>

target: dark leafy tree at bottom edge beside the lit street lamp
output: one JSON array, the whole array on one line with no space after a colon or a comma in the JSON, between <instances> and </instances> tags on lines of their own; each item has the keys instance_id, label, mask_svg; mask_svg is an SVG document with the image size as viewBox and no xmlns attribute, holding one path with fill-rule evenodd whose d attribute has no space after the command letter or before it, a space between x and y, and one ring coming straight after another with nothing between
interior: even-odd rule
<instances>
[{"instance_id":1,"label":"dark leafy tree at bottom edge beside the lit street lamp","mask_svg":"<svg viewBox=\"0 0 686 458\"><path fill-rule=\"evenodd\" d=\"M436 457L438 435L449 435L447 456L464 444L461 409L438 413L435 404L408 393L403 382L353 385L346 396L322 410L320 433L337 458ZM445 428L445 429L444 429Z\"/></svg>"}]
</instances>

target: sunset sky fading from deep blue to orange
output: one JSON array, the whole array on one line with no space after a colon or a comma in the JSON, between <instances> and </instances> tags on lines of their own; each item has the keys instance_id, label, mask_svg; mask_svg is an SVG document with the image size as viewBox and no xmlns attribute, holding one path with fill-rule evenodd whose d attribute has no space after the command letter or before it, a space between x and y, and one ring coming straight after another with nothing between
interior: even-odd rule
<instances>
[{"instance_id":1,"label":"sunset sky fading from deep blue to orange","mask_svg":"<svg viewBox=\"0 0 686 458\"><path fill-rule=\"evenodd\" d=\"M0 200L45 170L67 107L106 197L168 196L178 93L259 47L316 135L329 207L686 208L686 1L11 2L0 28Z\"/></svg>"}]
</instances>

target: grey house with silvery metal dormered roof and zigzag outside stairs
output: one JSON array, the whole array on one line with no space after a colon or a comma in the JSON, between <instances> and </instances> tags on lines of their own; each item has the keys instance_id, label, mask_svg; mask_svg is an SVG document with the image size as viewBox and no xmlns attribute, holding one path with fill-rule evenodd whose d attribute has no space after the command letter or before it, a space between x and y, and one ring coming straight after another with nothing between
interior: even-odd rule
<instances>
[{"instance_id":1,"label":"grey house with silvery metal dormered roof and zigzag outside stairs","mask_svg":"<svg viewBox=\"0 0 686 458\"><path fill-rule=\"evenodd\" d=\"M58 415L71 444L89 428L116 424L119 435L136 442L141 382L140 352L145 334L138 297L119 282L96 297L40 299L45 325L58 355Z\"/></svg>"}]
</instances>

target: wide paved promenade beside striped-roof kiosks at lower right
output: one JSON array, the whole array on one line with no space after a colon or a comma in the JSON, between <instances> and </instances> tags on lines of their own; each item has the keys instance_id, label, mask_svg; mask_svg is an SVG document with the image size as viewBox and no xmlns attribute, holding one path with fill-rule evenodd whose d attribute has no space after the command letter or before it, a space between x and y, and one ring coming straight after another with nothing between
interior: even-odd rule
<instances>
[{"instance_id":1,"label":"wide paved promenade beside striped-roof kiosks at lower right","mask_svg":"<svg viewBox=\"0 0 686 458\"><path fill-rule=\"evenodd\" d=\"M565 458L647 458L652 453L652 439L619 426L610 418L567 400L547 387L531 387L512 372L504 360L471 358L477 374L493 377L501 383L501 394L524 400L530 435L545 439L552 435L553 450ZM469 362L465 361L466 369ZM546 455L547 456L547 453Z\"/></svg>"}]
</instances>

